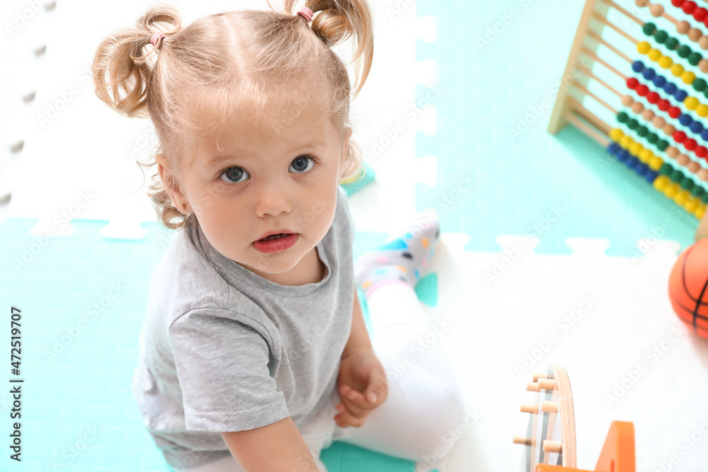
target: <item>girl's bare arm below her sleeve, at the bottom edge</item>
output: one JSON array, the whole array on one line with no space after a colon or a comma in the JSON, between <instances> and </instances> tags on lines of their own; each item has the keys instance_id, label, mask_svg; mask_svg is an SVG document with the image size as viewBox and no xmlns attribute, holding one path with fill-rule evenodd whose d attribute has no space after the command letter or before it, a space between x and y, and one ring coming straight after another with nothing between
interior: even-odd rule
<instances>
[{"instance_id":1,"label":"girl's bare arm below her sleeve, at the bottom edge","mask_svg":"<svg viewBox=\"0 0 708 472\"><path fill-rule=\"evenodd\" d=\"M246 472L318 472L295 422L287 417L253 430L222 432L232 456Z\"/></svg>"}]
</instances>

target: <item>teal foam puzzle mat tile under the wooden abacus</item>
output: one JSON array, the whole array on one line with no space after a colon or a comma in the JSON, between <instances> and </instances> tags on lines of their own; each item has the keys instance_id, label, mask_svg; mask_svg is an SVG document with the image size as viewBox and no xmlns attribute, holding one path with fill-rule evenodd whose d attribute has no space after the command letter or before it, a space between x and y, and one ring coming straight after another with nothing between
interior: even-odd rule
<instances>
[{"instance_id":1,"label":"teal foam puzzle mat tile under the wooden abacus","mask_svg":"<svg viewBox=\"0 0 708 472\"><path fill-rule=\"evenodd\" d=\"M566 238L605 238L607 255L641 255L639 239L693 242L698 221L575 127L547 132L583 2L418 0L438 40L418 60L438 63L418 103L438 109L438 185L418 183L416 206L434 206L443 231L469 234L468 251L501 251L500 234L537 236L537 253L566 255ZM431 84L427 84L431 85ZM677 211L680 210L680 211Z\"/></svg>"}]
</instances>

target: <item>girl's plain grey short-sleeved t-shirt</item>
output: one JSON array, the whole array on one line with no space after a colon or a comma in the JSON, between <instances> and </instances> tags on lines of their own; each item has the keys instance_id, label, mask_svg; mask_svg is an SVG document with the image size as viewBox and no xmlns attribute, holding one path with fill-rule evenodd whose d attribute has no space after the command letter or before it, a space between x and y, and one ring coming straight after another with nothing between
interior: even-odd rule
<instances>
[{"instance_id":1,"label":"girl's plain grey short-sleeved t-shirt","mask_svg":"<svg viewBox=\"0 0 708 472\"><path fill-rule=\"evenodd\" d=\"M324 279L276 284L185 226L150 283L132 384L142 420L175 468L229 455L221 432L292 417L302 427L336 388L354 297L354 223L338 188L317 244Z\"/></svg>"}]
</instances>

